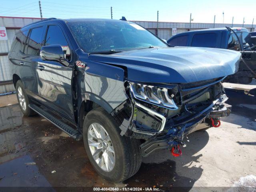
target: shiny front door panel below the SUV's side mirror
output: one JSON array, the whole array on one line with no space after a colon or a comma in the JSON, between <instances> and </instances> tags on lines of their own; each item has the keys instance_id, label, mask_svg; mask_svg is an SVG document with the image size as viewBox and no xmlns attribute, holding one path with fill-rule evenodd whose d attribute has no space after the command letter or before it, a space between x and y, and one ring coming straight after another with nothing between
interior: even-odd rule
<instances>
[{"instance_id":1,"label":"shiny front door panel below the SUV's side mirror","mask_svg":"<svg viewBox=\"0 0 256 192\"><path fill-rule=\"evenodd\" d=\"M38 75L38 95L44 106L58 112L69 120L74 120L72 100L73 69L54 61L37 63L44 70L36 69Z\"/></svg>"}]
</instances>

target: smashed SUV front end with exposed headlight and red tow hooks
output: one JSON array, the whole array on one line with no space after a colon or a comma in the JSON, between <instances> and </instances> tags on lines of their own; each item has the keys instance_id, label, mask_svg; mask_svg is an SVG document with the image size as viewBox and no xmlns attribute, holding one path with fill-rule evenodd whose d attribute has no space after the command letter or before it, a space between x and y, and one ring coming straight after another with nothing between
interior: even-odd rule
<instances>
[{"instance_id":1,"label":"smashed SUV front end with exposed headlight and red tow hooks","mask_svg":"<svg viewBox=\"0 0 256 192\"><path fill-rule=\"evenodd\" d=\"M225 77L224 77L225 78ZM172 148L180 155L184 136L200 129L217 127L231 106L221 81L215 78L188 84L124 83L129 99L112 112L121 135L143 139L142 156ZM174 152L178 151L178 152Z\"/></svg>"}]
</instances>

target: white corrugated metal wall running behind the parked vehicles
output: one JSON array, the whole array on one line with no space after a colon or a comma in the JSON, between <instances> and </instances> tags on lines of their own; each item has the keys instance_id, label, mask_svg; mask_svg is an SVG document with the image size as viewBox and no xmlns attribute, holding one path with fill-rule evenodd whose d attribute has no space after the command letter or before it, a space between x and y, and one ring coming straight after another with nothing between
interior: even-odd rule
<instances>
[{"instance_id":1,"label":"white corrugated metal wall running behind the parked vehicles","mask_svg":"<svg viewBox=\"0 0 256 192\"><path fill-rule=\"evenodd\" d=\"M0 94L15 91L12 84L12 76L8 64L8 52L14 38L14 34L23 26L36 22L40 18L24 18L24 17L4 17L0 16L0 27L6 28L8 40L0 40ZM157 22L152 21L133 21L147 28L152 33L157 34ZM179 22L158 22L158 36L162 39L168 40L172 36L172 32L182 33L189 30L189 23ZM215 24L216 28L230 26L231 24ZM242 24L234 24L234 27L242 27ZM249 31L254 31L256 25L244 25ZM190 30L198 30L205 28L213 28L213 24L209 23L192 23Z\"/></svg>"}]
</instances>

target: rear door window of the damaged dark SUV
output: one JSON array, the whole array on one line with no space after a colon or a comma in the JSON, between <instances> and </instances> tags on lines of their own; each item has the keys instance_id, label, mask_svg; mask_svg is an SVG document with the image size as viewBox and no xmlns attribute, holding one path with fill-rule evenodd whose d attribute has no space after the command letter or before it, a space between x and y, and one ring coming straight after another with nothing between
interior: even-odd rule
<instances>
[{"instance_id":1,"label":"rear door window of the damaged dark SUV","mask_svg":"<svg viewBox=\"0 0 256 192\"><path fill-rule=\"evenodd\" d=\"M27 47L25 47L25 54L39 55L40 48L43 42L43 27L33 28L27 40Z\"/></svg>"}]
</instances>

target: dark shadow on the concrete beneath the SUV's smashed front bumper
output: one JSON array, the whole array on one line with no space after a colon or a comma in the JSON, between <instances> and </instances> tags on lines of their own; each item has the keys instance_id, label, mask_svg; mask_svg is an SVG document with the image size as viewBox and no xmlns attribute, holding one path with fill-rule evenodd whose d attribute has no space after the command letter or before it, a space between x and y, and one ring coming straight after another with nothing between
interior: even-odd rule
<instances>
[{"instance_id":1,"label":"dark shadow on the concrete beneath the SUV's smashed front bumper","mask_svg":"<svg viewBox=\"0 0 256 192\"><path fill-rule=\"evenodd\" d=\"M200 166L192 166L203 154L194 154L208 143L209 135L207 131L199 131L188 138L184 139L187 146L182 148L181 157L173 157L170 150L157 151L144 158L138 173L125 183L128 186L178 187L177 190L189 191L203 172Z\"/></svg>"}]
</instances>

